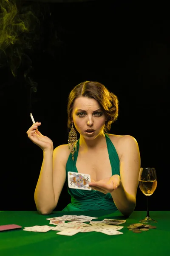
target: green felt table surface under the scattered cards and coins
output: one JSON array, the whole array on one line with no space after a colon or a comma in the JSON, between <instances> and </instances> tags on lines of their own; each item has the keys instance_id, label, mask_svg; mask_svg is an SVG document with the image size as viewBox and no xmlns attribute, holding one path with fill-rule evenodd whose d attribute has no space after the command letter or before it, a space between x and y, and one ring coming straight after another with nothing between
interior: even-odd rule
<instances>
[{"instance_id":1,"label":"green felt table surface under the scattered cards and coins","mask_svg":"<svg viewBox=\"0 0 170 256\"><path fill-rule=\"evenodd\" d=\"M23 231L24 227L49 225L46 218L69 215L87 215L104 218L126 219L120 230L122 235L109 236L100 232L77 233L74 236L60 236L57 231L46 233ZM0 256L170 256L170 211L151 211L150 217L158 222L156 229L133 233L127 226L139 223L146 212L134 211L129 218L112 211L54 211L40 215L37 211L1 211L0 225L18 224L20 230L0 232Z\"/></svg>"}]
</instances>

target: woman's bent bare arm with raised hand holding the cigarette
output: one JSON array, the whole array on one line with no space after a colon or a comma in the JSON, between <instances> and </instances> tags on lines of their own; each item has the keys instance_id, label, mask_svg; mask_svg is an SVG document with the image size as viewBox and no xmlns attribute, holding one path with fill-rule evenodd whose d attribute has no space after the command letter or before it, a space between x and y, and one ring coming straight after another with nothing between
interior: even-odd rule
<instances>
[{"instance_id":1,"label":"woman's bent bare arm with raised hand holding the cigarette","mask_svg":"<svg viewBox=\"0 0 170 256\"><path fill-rule=\"evenodd\" d=\"M57 206L65 182L65 166L68 159L68 145L60 145L53 151L53 142L38 131L41 123L34 123L27 131L28 138L43 151L43 161L34 201L41 214L49 214Z\"/></svg>"}]
</instances>

